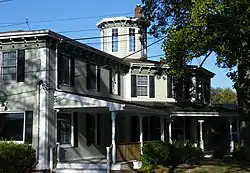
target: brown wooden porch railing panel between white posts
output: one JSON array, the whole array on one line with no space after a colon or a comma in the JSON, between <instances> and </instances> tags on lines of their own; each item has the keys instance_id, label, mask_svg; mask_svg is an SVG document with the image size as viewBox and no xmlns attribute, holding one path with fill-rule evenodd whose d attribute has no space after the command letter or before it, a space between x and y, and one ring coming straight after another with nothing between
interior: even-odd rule
<instances>
[{"instance_id":1,"label":"brown wooden porch railing panel between white posts","mask_svg":"<svg viewBox=\"0 0 250 173\"><path fill-rule=\"evenodd\" d=\"M138 160L141 154L141 143L118 144L117 161Z\"/></svg>"}]
</instances>

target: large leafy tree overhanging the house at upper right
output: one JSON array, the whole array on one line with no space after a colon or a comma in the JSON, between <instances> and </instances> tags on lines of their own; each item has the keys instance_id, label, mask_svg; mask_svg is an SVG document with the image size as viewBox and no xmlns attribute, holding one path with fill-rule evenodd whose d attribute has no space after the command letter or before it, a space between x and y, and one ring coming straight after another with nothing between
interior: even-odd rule
<instances>
[{"instance_id":1,"label":"large leafy tree overhanging the house at upper right","mask_svg":"<svg viewBox=\"0 0 250 173\"><path fill-rule=\"evenodd\" d=\"M142 0L150 33L166 36L163 63L170 74L185 76L187 64L202 63L215 54L215 64L228 69L237 91L245 132L250 132L250 1L249 0ZM249 129L248 129L249 128ZM248 141L247 141L248 139ZM249 136L244 136L250 144Z\"/></svg>"}]
</instances>

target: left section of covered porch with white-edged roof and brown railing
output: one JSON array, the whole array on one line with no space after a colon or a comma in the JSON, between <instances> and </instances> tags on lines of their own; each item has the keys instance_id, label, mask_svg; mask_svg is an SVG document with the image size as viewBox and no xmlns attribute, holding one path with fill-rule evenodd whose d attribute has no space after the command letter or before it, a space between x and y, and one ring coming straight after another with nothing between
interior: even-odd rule
<instances>
[{"instance_id":1,"label":"left section of covered porch with white-edged roof and brown railing","mask_svg":"<svg viewBox=\"0 0 250 173\"><path fill-rule=\"evenodd\" d=\"M156 116L158 137L165 138L163 125L159 126L168 119L165 111L68 93L57 100L54 106L57 168L107 166L105 163L109 161L115 164L138 160L145 135L144 117L152 120Z\"/></svg>"}]
</instances>

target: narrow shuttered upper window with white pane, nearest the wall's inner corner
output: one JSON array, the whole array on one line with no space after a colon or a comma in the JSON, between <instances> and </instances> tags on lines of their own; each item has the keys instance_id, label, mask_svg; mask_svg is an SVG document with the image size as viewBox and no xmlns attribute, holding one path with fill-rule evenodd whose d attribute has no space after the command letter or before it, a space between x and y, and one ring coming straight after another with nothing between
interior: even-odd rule
<instances>
[{"instance_id":1,"label":"narrow shuttered upper window with white pane, nearest the wall's inner corner","mask_svg":"<svg viewBox=\"0 0 250 173\"><path fill-rule=\"evenodd\" d=\"M110 94L120 95L120 73L115 70L110 70L109 82Z\"/></svg>"}]
</instances>

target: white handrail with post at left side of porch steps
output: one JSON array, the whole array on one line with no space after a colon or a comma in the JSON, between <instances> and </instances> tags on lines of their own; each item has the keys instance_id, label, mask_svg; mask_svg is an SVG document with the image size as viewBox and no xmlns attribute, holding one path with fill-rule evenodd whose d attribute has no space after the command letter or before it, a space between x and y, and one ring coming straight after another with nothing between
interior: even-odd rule
<instances>
[{"instance_id":1,"label":"white handrail with post at left side of porch steps","mask_svg":"<svg viewBox=\"0 0 250 173\"><path fill-rule=\"evenodd\" d=\"M54 147L51 147L49 149L49 155L50 155L50 173L53 172L53 169L56 167L56 164L60 161L60 144L56 143Z\"/></svg>"}]
</instances>

